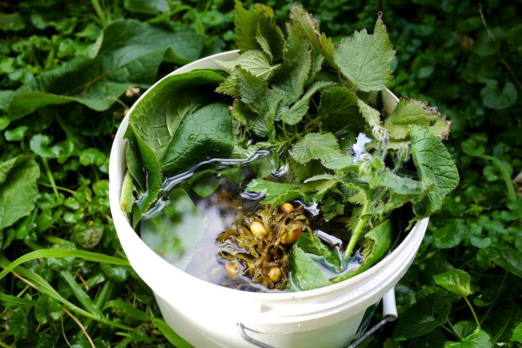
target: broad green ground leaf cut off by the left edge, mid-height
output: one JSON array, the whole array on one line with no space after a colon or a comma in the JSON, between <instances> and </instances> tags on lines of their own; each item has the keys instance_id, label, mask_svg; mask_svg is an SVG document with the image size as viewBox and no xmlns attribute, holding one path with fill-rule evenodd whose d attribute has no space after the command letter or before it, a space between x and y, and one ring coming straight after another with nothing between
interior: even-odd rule
<instances>
[{"instance_id":1,"label":"broad green ground leaf cut off by the left edge, mid-height","mask_svg":"<svg viewBox=\"0 0 522 348\"><path fill-rule=\"evenodd\" d=\"M0 162L0 230L32 212L39 177L40 167L30 156Z\"/></svg>"}]
</instances>

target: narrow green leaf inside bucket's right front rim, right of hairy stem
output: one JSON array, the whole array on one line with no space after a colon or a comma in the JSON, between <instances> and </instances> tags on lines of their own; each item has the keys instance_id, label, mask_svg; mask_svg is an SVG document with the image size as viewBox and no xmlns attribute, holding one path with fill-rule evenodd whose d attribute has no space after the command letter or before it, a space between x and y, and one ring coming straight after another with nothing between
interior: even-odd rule
<instances>
[{"instance_id":1,"label":"narrow green leaf inside bucket's right front rim, right of hairy stem","mask_svg":"<svg viewBox=\"0 0 522 348\"><path fill-rule=\"evenodd\" d=\"M352 278L375 265L389 251L392 243L392 224L389 220L385 220L366 233L364 238L366 241L363 246L361 266L346 275L334 279L334 282Z\"/></svg>"}]
</instances>

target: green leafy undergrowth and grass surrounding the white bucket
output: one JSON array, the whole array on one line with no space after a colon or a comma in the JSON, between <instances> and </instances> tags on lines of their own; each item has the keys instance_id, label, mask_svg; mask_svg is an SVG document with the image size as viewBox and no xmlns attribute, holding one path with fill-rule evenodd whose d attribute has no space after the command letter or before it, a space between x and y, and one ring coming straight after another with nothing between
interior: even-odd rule
<instances>
[{"instance_id":1,"label":"green leafy undergrowth and grass surrounding the white bucket","mask_svg":"<svg viewBox=\"0 0 522 348\"><path fill-rule=\"evenodd\" d=\"M293 4L264 3L281 22ZM460 186L396 288L400 320L368 344L520 346L522 4L302 4L335 42L371 30L382 10L397 51L389 88L453 121L446 144ZM0 9L0 267L27 260L0 279L0 346L184 346L117 241L108 158L136 88L234 48L233 2L33 0Z\"/></svg>"}]
</instances>

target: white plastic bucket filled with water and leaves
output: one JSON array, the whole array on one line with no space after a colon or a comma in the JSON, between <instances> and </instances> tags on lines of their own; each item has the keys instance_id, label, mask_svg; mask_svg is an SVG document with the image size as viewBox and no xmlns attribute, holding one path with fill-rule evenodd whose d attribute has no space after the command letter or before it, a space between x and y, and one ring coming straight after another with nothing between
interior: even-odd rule
<instances>
[{"instance_id":1,"label":"white plastic bucket filled with water and leaves","mask_svg":"<svg viewBox=\"0 0 522 348\"><path fill-rule=\"evenodd\" d=\"M217 69L213 59L232 60L238 54L232 51L199 59L168 76L193 69ZM397 102L393 93L383 91L388 113ZM278 348L346 345L357 332L366 308L397 284L417 254L428 226L427 218L416 223L404 241L381 262L351 279L320 289L254 293L224 288L186 274L153 252L120 209L126 170L123 135L134 107L116 132L111 150L109 198L114 226L131 266L155 293L165 321L195 347L254 346L241 337L240 323L253 339Z\"/></svg>"}]
</instances>

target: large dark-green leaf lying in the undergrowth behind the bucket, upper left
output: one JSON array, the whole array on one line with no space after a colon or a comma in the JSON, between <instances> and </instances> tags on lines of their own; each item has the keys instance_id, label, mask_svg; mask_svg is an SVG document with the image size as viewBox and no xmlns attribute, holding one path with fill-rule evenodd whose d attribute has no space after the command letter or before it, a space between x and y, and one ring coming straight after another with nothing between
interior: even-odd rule
<instances>
[{"instance_id":1,"label":"large dark-green leaf lying in the undergrowth behind the bucket, upper left","mask_svg":"<svg viewBox=\"0 0 522 348\"><path fill-rule=\"evenodd\" d=\"M203 35L168 32L135 19L112 21L100 37L102 43L94 57L78 56L9 95L9 118L70 102L106 110L129 85L151 85L161 61L186 64L198 58L204 41Z\"/></svg>"}]
</instances>

